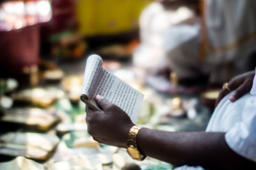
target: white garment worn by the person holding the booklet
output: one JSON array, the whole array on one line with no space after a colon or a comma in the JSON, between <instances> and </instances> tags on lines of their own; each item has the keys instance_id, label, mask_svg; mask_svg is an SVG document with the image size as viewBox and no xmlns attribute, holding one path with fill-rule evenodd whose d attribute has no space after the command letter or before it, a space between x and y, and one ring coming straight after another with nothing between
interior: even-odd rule
<instances>
[{"instance_id":1,"label":"white garment worn by the person holding the booklet","mask_svg":"<svg viewBox=\"0 0 256 170\"><path fill-rule=\"evenodd\" d=\"M256 162L256 76L250 93L230 102L233 92L225 96L214 110L206 132L226 132L228 146L248 160ZM182 169L202 169L202 167L177 167Z\"/></svg>"}]
</instances>

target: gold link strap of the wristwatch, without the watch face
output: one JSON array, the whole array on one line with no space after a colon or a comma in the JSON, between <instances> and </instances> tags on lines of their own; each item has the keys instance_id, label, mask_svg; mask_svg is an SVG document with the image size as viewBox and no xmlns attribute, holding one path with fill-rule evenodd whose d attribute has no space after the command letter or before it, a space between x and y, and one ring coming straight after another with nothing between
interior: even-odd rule
<instances>
[{"instance_id":1,"label":"gold link strap of the wristwatch, without the watch face","mask_svg":"<svg viewBox=\"0 0 256 170\"><path fill-rule=\"evenodd\" d=\"M130 128L128 139L127 139L128 147L132 147L132 148L135 148L136 150L138 150L137 135L140 130L141 130L141 127L137 127L136 125L134 125L133 127ZM140 150L138 150L138 152L140 154L140 158L139 159L136 158L136 159L143 160L145 158L145 155L141 154Z\"/></svg>"}]
</instances>

